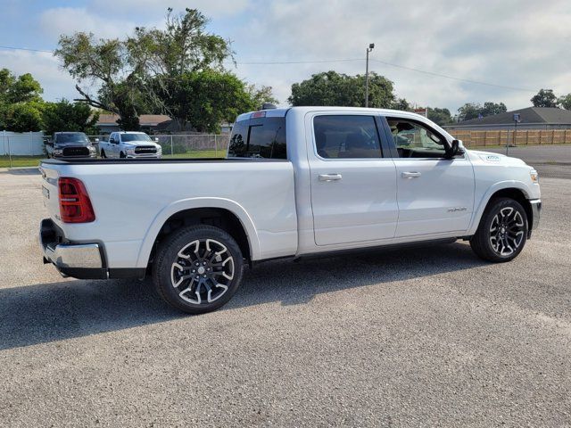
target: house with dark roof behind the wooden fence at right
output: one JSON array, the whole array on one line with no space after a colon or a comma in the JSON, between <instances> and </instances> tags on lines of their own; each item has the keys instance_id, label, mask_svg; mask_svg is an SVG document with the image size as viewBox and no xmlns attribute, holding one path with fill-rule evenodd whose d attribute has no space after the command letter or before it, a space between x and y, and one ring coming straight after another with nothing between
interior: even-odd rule
<instances>
[{"instance_id":1,"label":"house with dark roof behind the wooden fence at right","mask_svg":"<svg viewBox=\"0 0 571 428\"><path fill-rule=\"evenodd\" d=\"M517 129L568 129L571 128L571 111L552 107L527 107L505 113L469 119L447 126L450 130L492 131L514 128L514 114L519 113L521 121Z\"/></svg>"}]
</instances>

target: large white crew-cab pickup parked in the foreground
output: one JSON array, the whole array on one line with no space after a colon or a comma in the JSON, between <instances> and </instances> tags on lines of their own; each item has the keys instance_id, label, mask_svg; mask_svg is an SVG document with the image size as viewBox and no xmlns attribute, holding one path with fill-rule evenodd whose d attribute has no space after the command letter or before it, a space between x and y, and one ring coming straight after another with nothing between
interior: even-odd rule
<instances>
[{"instance_id":1,"label":"large white crew-cab pickup parked in the foreground","mask_svg":"<svg viewBox=\"0 0 571 428\"><path fill-rule=\"evenodd\" d=\"M244 264L469 240L514 259L538 226L537 172L464 150L404 111L294 107L236 119L227 159L42 161L44 261L77 278L153 276L188 313L218 309Z\"/></svg>"}]
</instances>

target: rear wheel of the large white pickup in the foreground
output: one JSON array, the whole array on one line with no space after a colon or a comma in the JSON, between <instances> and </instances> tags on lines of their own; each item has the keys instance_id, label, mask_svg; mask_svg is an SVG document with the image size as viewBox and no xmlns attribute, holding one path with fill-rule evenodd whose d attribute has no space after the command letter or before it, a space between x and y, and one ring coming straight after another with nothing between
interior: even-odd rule
<instances>
[{"instance_id":1,"label":"rear wheel of the large white pickup in the foreground","mask_svg":"<svg viewBox=\"0 0 571 428\"><path fill-rule=\"evenodd\" d=\"M161 243L153 263L153 283L173 308L203 314L219 309L232 298L242 281L243 266L242 251L226 231L214 226L188 226Z\"/></svg>"}]
</instances>

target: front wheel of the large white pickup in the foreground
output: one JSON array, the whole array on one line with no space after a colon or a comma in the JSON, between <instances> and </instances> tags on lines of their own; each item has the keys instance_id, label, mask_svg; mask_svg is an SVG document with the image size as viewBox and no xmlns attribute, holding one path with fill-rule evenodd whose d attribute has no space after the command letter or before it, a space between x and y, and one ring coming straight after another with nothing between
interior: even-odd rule
<instances>
[{"instance_id":1,"label":"front wheel of the large white pickup in the foreground","mask_svg":"<svg viewBox=\"0 0 571 428\"><path fill-rule=\"evenodd\" d=\"M493 199L470 239L470 246L478 257L494 263L515 259L524 249L528 226L527 214L519 202L510 198Z\"/></svg>"}]
</instances>

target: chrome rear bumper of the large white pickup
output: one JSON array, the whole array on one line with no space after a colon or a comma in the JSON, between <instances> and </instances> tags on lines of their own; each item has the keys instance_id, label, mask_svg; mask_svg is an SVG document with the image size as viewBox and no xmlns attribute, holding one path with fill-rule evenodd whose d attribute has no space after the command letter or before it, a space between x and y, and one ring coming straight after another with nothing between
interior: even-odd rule
<instances>
[{"instance_id":1,"label":"chrome rear bumper of the large white pickup","mask_svg":"<svg viewBox=\"0 0 571 428\"><path fill-rule=\"evenodd\" d=\"M103 249L98 243L67 242L50 218L42 220L39 244L44 263L52 263L63 276L79 279L107 279Z\"/></svg>"}]
</instances>

